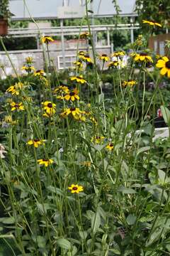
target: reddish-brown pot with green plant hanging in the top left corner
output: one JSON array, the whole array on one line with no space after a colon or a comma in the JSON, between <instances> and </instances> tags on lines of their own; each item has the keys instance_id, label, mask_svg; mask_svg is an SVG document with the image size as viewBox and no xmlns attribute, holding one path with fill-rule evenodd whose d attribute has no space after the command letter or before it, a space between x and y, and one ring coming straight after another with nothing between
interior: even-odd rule
<instances>
[{"instance_id":1,"label":"reddish-brown pot with green plant hanging in the top left corner","mask_svg":"<svg viewBox=\"0 0 170 256\"><path fill-rule=\"evenodd\" d=\"M8 33L8 18L11 17L8 5L8 0L0 1L0 36L6 36Z\"/></svg>"}]
</instances>

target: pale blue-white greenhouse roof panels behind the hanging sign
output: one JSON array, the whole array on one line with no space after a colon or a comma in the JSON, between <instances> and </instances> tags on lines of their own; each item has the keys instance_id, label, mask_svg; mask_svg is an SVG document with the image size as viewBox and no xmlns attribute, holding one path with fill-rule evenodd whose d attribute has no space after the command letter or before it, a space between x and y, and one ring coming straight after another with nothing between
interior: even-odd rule
<instances>
[{"instance_id":1,"label":"pale blue-white greenhouse roof panels behind the hanging sign","mask_svg":"<svg viewBox=\"0 0 170 256\"><path fill-rule=\"evenodd\" d=\"M23 0L10 0L12 20L29 19L30 15L36 19L52 18L81 18L85 14L85 0L26 0L28 10ZM118 0L120 16L136 16L134 12L135 0ZM94 16L108 17L116 14L112 0L94 0Z\"/></svg>"}]
</instances>

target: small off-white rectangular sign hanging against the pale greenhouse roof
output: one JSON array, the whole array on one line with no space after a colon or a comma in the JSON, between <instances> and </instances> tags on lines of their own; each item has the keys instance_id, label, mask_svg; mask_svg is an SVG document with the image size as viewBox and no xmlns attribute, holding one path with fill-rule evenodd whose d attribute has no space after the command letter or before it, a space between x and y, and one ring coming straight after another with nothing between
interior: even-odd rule
<instances>
[{"instance_id":1,"label":"small off-white rectangular sign hanging against the pale greenhouse roof","mask_svg":"<svg viewBox=\"0 0 170 256\"><path fill-rule=\"evenodd\" d=\"M57 8L57 18L82 18L84 6L60 6Z\"/></svg>"}]
</instances>

